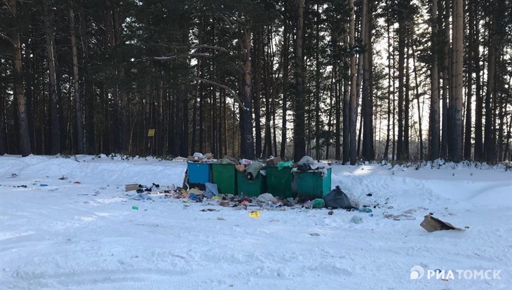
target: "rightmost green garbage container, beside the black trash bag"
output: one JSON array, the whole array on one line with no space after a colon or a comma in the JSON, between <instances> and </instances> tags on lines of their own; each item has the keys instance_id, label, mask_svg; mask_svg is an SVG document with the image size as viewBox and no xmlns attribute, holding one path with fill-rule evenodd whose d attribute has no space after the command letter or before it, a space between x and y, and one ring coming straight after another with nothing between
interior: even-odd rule
<instances>
[{"instance_id":1,"label":"rightmost green garbage container, beside the black trash bag","mask_svg":"<svg viewBox=\"0 0 512 290\"><path fill-rule=\"evenodd\" d=\"M327 175L322 177L322 172L299 172L295 173L297 179L297 193L306 198L323 198L330 191L331 169L328 168Z\"/></svg>"}]
</instances>

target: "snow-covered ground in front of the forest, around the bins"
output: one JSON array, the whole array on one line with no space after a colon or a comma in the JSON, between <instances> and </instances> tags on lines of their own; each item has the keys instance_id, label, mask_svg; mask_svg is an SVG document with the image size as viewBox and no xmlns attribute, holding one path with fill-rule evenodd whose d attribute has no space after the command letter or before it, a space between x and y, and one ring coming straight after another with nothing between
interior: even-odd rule
<instances>
[{"instance_id":1,"label":"snow-covered ground in front of the forest, around the bins","mask_svg":"<svg viewBox=\"0 0 512 290\"><path fill-rule=\"evenodd\" d=\"M503 167L335 165L332 187L373 216L288 208L254 219L217 202L137 201L124 191L179 186L185 168L153 158L0 157L0 288L512 289L512 172ZM429 212L469 228L427 233L419 223ZM424 277L410 279L415 265ZM428 279L432 270L455 277ZM501 279L458 279L457 270Z\"/></svg>"}]
</instances>

